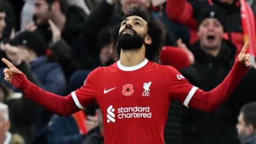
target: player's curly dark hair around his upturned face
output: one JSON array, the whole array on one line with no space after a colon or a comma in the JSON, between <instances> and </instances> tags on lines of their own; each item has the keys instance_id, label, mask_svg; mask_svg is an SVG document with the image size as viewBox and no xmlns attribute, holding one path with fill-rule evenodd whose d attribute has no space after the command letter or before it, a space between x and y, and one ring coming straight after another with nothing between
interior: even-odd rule
<instances>
[{"instance_id":1,"label":"player's curly dark hair around his upturned face","mask_svg":"<svg viewBox=\"0 0 256 144\"><path fill-rule=\"evenodd\" d=\"M133 7L131 11L129 11L126 15L124 15L123 20L132 15L137 15L141 17L148 23L148 35L152 38L152 43L150 45L146 45L146 58L150 61L155 61L159 57L159 52L162 49L165 41L165 26L162 22L158 20L154 20L151 18L148 10L141 9L141 7ZM111 30L112 38L114 41L113 47L115 51L120 55L121 49L117 47L117 37L119 29L121 28L121 23L114 27Z\"/></svg>"}]
</instances>

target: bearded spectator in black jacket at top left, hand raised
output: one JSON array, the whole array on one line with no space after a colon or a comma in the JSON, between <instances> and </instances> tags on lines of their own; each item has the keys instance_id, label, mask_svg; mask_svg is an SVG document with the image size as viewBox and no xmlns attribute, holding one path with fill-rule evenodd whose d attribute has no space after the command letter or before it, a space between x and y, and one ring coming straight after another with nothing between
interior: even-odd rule
<instances>
[{"instance_id":1,"label":"bearded spectator in black jacket at top left, hand raised","mask_svg":"<svg viewBox=\"0 0 256 144\"><path fill-rule=\"evenodd\" d=\"M88 42L90 40L81 30L86 14L80 7L68 5L65 0L36 0L34 4L36 31L46 39L47 43L54 43L54 35L49 28L50 19L60 30L61 38L70 46L71 54L76 56L76 61L82 68L92 69L99 66L95 59L97 57L93 57L95 49L90 49Z\"/></svg>"}]
</instances>

